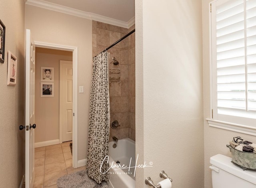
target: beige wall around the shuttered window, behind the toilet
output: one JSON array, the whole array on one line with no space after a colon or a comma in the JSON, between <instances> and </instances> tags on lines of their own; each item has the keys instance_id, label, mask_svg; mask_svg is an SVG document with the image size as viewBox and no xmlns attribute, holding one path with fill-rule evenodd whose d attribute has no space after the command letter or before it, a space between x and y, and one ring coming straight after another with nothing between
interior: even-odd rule
<instances>
[{"instance_id":1,"label":"beige wall around the shuttered window, behind the toilet","mask_svg":"<svg viewBox=\"0 0 256 188\"><path fill-rule=\"evenodd\" d=\"M210 119L210 50L209 50L209 3L211 0L202 0L202 25L203 25L203 62L204 62L204 119ZM231 157L226 144L232 141L233 137L240 136L245 140L256 142L256 137L209 127L204 120L204 187L212 188L212 175L210 157L216 154L223 154Z\"/></svg>"}]
</instances>

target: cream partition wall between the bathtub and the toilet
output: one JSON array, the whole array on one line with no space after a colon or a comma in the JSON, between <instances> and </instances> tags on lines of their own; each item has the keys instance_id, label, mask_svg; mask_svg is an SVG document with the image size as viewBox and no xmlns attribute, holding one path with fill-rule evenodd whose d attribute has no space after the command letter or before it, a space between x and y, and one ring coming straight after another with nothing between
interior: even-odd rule
<instances>
[{"instance_id":1,"label":"cream partition wall between the bathtub and the toilet","mask_svg":"<svg viewBox=\"0 0 256 188\"><path fill-rule=\"evenodd\" d=\"M201 0L135 0L136 187L204 187Z\"/></svg>"}]
</instances>

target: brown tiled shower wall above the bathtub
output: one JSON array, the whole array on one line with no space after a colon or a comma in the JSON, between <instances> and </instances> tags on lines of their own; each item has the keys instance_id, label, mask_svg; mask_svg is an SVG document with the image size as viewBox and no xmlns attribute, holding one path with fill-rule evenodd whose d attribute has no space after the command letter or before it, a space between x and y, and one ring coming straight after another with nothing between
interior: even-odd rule
<instances>
[{"instance_id":1,"label":"brown tiled shower wall above the bathtub","mask_svg":"<svg viewBox=\"0 0 256 188\"><path fill-rule=\"evenodd\" d=\"M92 56L122 38L133 30L92 21ZM119 61L120 82L112 82L110 89L110 121L117 120L120 127L110 128L110 141L130 138L135 141L135 33L108 49L112 57ZM114 65L116 66L116 65ZM115 67L116 68L116 67Z\"/></svg>"}]
</instances>

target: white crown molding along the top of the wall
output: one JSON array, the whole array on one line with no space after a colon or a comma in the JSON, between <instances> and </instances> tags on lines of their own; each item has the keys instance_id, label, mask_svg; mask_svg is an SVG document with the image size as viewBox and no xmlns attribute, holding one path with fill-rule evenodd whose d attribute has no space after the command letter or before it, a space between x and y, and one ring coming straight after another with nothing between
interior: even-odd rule
<instances>
[{"instance_id":1,"label":"white crown molding along the top of the wall","mask_svg":"<svg viewBox=\"0 0 256 188\"><path fill-rule=\"evenodd\" d=\"M26 4L32 5L32 6L38 6L40 8L46 8L48 10L54 10L54 11L57 11L57 12L62 12L62 13L65 13L65 14L70 14L70 15L73 15L73 16L78 16L78 17L82 17L82 18L86 18L86 19L90 19L90 20L95 20L95 21L98 21L98 22L103 22L103 23L106 23L106 24L114 25L114 26L120 26L120 27L123 27L123 28L130 28L130 26L132 26L135 23L135 18L134 17L131 20L129 20L128 22L123 22L123 21L120 21L120 20L108 18L106 16L101 16L101 15L98 15L98 14L94 14L94 13L90 13L90 12L84 12L82 10L77 10L77 9L74 9L74 8L69 8L69 7L66 7L66 6L46 2L44 0L26 0Z\"/></svg>"}]
</instances>

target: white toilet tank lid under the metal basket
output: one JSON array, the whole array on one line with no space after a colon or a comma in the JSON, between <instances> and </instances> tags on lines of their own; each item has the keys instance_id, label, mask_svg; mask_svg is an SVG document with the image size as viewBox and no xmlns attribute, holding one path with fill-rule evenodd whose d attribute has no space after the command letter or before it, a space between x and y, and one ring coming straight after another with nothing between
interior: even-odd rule
<instances>
[{"instance_id":1,"label":"white toilet tank lid under the metal basket","mask_svg":"<svg viewBox=\"0 0 256 188\"><path fill-rule=\"evenodd\" d=\"M228 156L216 154L210 158L210 163L234 176L238 176L239 178L256 185L256 170L242 170L240 166L233 164L231 160L232 158Z\"/></svg>"}]
</instances>

